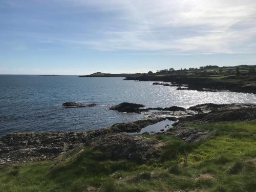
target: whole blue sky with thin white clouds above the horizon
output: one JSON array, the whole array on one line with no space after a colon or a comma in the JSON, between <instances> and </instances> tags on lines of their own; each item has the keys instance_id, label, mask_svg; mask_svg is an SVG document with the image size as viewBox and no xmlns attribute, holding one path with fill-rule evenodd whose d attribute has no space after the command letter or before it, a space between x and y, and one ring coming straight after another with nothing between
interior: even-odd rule
<instances>
[{"instance_id":1,"label":"whole blue sky with thin white clouds above the horizon","mask_svg":"<svg viewBox=\"0 0 256 192\"><path fill-rule=\"evenodd\" d=\"M0 0L0 74L256 65L255 0Z\"/></svg>"}]
</instances>

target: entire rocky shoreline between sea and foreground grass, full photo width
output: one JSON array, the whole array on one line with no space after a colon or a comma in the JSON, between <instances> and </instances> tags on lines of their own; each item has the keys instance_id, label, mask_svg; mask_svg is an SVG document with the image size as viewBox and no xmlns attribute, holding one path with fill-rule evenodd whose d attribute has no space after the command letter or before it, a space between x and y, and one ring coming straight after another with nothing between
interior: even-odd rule
<instances>
[{"instance_id":1,"label":"entire rocky shoreline between sea and foreground grass, full photo width","mask_svg":"<svg viewBox=\"0 0 256 192\"><path fill-rule=\"evenodd\" d=\"M137 108L142 105L136 104L133 106ZM125 107L127 106L125 105ZM114 107L113 109L117 110L117 108ZM168 108L166 109L168 110ZM170 109L183 112L183 109L179 107ZM256 118L256 104L206 103L185 110L194 111L195 114L179 117L179 122L241 121ZM177 121L175 117L155 117L128 123L116 123L105 129L95 131L8 134L0 137L0 166L52 159L82 145L97 146L97 148L109 150L110 157L116 156L114 151L122 151L125 148L125 152L121 153L120 157L143 161L157 156L161 143L152 142L152 140L140 135L127 135L126 133L137 133L144 127L163 121L166 118ZM206 139L210 135L206 131L180 126L179 122L170 126L170 129L166 132L157 134L174 135L185 142L197 142ZM138 159L136 151L143 150L145 155ZM150 157L147 157L146 151L152 152Z\"/></svg>"}]
</instances>

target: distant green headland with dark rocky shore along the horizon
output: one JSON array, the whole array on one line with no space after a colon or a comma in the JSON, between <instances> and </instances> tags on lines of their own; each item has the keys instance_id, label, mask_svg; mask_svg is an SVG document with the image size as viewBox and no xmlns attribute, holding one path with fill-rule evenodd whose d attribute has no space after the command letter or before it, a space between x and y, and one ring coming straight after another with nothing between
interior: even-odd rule
<instances>
[{"instance_id":1,"label":"distant green headland with dark rocky shore along the horizon","mask_svg":"<svg viewBox=\"0 0 256 192\"><path fill-rule=\"evenodd\" d=\"M179 90L228 90L232 92L256 94L256 73L255 66L218 67L205 66L200 69L189 68L175 71L160 70L157 73L135 73L135 74L111 74L93 73L79 77L125 77L124 80L136 81L163 81L174 84L187 84L187 88Z\"/></svg>"}]
</instances>

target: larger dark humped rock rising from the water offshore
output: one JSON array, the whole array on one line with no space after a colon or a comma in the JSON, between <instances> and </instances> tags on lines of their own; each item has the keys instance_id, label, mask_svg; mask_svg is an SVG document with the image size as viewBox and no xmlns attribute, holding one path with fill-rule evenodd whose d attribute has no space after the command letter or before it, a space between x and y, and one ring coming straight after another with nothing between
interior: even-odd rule
<instances>
[{"instance_id":1,"label":"larger dark humped rock rising from the water offshore","mask_svg":"<svg viewBox=\"0 0 256 192\"><path fill-rule=\"evenodd\" d=\"M118 105L114 105L110 108L110 110L117 110L118 112L127 112L127 113L138 113L144 111L143 104L136 104L136 103L128 103L128 102L123 102Z\"/></svg>"}]
</instances>

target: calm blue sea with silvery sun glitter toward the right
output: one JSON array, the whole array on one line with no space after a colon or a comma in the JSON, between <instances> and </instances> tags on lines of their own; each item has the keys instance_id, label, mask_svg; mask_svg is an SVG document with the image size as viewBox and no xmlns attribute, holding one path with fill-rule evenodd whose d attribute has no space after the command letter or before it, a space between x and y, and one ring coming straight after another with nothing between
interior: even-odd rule
<instances>
[{"instance_id":1,"label":"calm blue sea with silvery sun glitter toward the right","mask_svg":"<svg viewBox=\"0 0 256 192\"><path fill-rule=\"evenodd\" d=\"M61 103L97 103L92 108L63 109ZM212 103L256 103L255 94L177 91L149 81L77 76L0 75L0 136L12 132L93 130L143 118L109 110L120 102L147 107Z\"/></svg>"}]
</instances>

